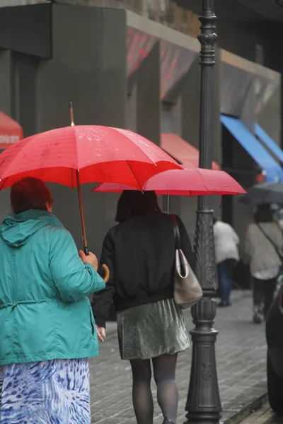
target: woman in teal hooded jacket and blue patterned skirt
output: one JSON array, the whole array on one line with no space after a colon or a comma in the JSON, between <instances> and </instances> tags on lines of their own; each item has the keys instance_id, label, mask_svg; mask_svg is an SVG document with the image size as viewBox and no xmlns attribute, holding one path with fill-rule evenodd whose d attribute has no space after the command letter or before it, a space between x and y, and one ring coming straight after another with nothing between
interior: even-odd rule
<instances>
[{"instance_id":1,"label":"woman in teal hooded jacket and blue patterned skirt","mask_svg":"<svg viewBox=\"0 0 283 424\"><path fill-rule=\"evenodd\" d=\"M40 179L13 184L11 206L0 226L1 424L90 424L97 259L80 259Z\"/></svg>"}]
</instances>

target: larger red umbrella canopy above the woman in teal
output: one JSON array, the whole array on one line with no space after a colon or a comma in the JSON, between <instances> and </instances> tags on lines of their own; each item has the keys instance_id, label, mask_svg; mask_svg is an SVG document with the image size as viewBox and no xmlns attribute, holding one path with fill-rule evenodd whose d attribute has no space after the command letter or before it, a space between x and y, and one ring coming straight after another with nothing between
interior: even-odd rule
<instances>
[{"instance_id":1,"label":"larger red umbrella canopy above the woman in teal","mask_svg":"<svg viewBox=\"0 0 283 424\"><path fill-rule=\"evenodd\" d=\"M0 155L0 189L25 176L76 187L119 182L141 189L158 172L179 169L144 137L108 126L67 126L23 139Z\"/></svg>"}]
</instances>

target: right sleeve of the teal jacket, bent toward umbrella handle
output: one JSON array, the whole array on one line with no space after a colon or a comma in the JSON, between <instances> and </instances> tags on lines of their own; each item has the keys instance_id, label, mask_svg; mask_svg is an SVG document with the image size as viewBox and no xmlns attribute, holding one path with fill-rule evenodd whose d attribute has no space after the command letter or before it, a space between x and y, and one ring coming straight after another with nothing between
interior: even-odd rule
<instances>
[{"instance_id":1,"label":"right sleeve of the teal jacket, bent toward umbrella handle","mask_svg":"<svg viewBox=\"0 0 283 424\"><path fill-rule=\"evenodd\" d=\"M50 271L64 302L76 302L105 288L93 266L81 261L74 239L67 230L59 229L52 235Z\"/></svg>"}]
</instances>

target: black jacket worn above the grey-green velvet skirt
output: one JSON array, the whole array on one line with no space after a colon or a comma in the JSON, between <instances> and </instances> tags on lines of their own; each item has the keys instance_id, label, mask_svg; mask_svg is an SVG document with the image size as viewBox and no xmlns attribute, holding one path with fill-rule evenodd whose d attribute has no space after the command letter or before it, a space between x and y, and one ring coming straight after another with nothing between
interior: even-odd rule
<instances>
[{"instance_id":1,"label":"black jacket worn above the grey-green velvet skirt","mask_svg":"<svg viewBox=\"0 0 283 424\"><path fill-rule=\"evenodd\" d=\"M195 258L178 218L182 249L195 270ZM93 295L96 324L105 326L113 300L116 311L173 298L175 240L172 218L150 213L116 225L105 236L100 265L110 269L105 290Z\"/></svg>"}]
</instances>

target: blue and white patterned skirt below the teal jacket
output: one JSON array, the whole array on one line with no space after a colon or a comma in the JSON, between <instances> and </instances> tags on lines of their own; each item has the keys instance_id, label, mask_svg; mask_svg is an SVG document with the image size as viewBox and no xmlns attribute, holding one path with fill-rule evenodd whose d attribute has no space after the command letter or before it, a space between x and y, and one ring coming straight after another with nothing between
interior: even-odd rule
<instances>
[{"instance_id":1,"label":"blue and white patterned skirt below the teal jacket","mask_svg":"<svg viewBox=\"0 0 283 424\"><path fill-rule=\"evenodd\" d=\"M88 360L0 367L1 424L91 424Z\"/></svg>"}]
</instances>

